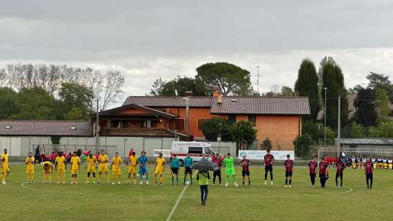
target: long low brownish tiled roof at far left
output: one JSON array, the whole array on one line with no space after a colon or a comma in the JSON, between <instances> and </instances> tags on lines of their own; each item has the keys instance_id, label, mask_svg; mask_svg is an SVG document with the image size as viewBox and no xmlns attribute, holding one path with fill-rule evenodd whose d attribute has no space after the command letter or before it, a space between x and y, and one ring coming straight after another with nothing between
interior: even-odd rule
<instances>
[{"instance_id":1,"label":"long low brownish tiled roof at far left","mask_svg":"<svg viewBox=\"0 0 393 221\"><path fill-rule=\"evenodd\" d=\"M92 137L92 122L0 119L0 136Z\"/></svg>"}]
</instances>

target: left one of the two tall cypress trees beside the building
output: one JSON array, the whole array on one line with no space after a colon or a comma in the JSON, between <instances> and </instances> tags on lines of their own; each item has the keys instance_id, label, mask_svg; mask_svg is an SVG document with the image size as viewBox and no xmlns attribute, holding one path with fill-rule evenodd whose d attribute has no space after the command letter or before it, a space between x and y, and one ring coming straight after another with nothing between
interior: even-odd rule
<instances>
[{"instance_id":1,"label":"left one of the two tall cypress trees beside the building","mask_svg":"<svg viewBox=\"0 0 393 221\"><path fill-rule=\"evenodd\" d=\"M314 62L310 59L301 61L294 89L299 93L299 96L308 97L311 112L308 119L315 122L316 115L318 115L320 109L320 99L318 95L318 75L316 74Z\"/></svg>"}]
</instances>

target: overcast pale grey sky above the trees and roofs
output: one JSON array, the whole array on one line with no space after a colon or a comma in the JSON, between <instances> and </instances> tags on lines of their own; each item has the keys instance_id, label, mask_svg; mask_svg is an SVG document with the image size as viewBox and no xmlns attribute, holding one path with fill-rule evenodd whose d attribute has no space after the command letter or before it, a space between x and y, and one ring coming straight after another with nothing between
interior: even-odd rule
<instances>
[{"instance_id":1,"label":"overcast pale grey sky above the trees and roofs","mask_svg":"<svg viewBox=\"0 0 393 221\"><path fill-rule=\"evenodd\" d=\"M253 82L260 66L261 92L293 87L305 57L316 68L334 57L347 87L365 84L370 71L393 75L389 0L0 1L0 66L117 69L125 95L216 61L250 70Z\"/></svg>"}]
</instances>

